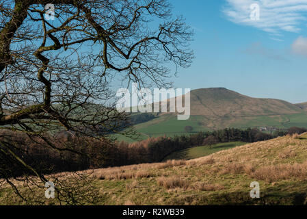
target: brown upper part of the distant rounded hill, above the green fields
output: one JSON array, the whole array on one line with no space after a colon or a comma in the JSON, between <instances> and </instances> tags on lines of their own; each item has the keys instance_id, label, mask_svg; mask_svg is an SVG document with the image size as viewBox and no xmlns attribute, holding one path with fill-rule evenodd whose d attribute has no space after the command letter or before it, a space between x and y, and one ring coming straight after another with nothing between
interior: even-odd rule
<instances>
[{"instance_id":1,"label":"brown upper part of the distant rounded hill, above the green fields","mask_svg":"<svg viewBox=\"0 0 307 219\"><path fill-rule=\"evenodd\" d=\"M191 115L267 116L299 112L302 112L301 107L286 101L252 98L226 88L203 88L191 91Z\"/></svg>"}]
</instances>

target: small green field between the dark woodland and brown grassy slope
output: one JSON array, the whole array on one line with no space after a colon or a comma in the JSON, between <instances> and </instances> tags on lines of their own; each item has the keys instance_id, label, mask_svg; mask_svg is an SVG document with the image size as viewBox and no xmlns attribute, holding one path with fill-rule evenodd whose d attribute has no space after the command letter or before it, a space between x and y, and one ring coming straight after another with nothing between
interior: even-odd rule
<instances>
[{"instance_id":1,"label":"small green field between the dark woodland and brown grassy slope","mask_svg":"<svg viewBox=\"0 0 307 219\"><path fill-rule=\"evenodd\" d=\"M165 161L168 159L194 159L198 157L204 157L207 155L211 155L212 153L215 153L217 151L222 151L226 149L232 149L235 146L241 146L244 144L248 144L245 142L227 142L227 143L220 143L215 144L211 146L211 149L209 146L196 146L191 149L185 149L181 151L176 151L168 157L165 157Z\"/></svg>"}]
</instances>

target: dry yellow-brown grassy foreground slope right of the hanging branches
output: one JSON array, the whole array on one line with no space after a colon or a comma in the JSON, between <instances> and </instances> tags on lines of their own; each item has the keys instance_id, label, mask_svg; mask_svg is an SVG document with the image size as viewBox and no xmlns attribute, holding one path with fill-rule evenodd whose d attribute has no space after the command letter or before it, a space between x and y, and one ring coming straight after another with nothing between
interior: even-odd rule
<instances>
[{"instance_id":1,"label":"dry yellow-brown grassy foreground slope right of the hanging branches","mask_svg":"<svg viewBox=\"0 0 307 219\"><path fill-rule=\"evenodd\" d=\"M306 204L307 134L237 146L187 162L94 170L93 177L103 205ZM250 198L252 181L260 183L261 198ZM44 189L36 194L43 197ZM0 204L18 203L12 190L1 190Z\"/></svg>"}]
</instances>

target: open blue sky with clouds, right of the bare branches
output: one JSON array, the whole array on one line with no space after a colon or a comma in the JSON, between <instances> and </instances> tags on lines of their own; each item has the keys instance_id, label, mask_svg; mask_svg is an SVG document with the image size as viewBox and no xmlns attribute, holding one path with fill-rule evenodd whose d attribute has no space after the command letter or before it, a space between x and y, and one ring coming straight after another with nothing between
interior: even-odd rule
<instances>
[{"instance_id":1,"label":"open blue sky with clouds, right of the bare branches","mask_svg":"<svg viewBox=\"0 0 307 219\"><path fill-rule=\"evenodd\" d=\"M307 0L170 0L195 31L195 60L177 88L225 87L253 97L307 101ZM250 19L258 3L260 20Z\"/></svg>"}]
</instances>

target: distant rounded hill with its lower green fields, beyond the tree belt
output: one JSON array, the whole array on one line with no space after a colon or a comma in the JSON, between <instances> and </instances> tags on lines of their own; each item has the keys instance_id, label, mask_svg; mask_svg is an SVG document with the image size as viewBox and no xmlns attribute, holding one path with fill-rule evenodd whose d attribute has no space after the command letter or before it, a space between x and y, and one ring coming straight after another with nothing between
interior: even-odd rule
<instances>
[{"instance_id":1,"label":"distant rounded hill with its lower green fields, beyond the tree belt","mask_svg":"<svg viewBox=\"0 0 307 219\"><path fill-rule=\"evenodd\" d=\"M174 113L160 113L153 120L135 125L135 129L148 138L187 133L186 126L193 127L193 131L307 127L307 103L295 105L278 99L252 98L226 88L191 90L190 99L189 120L177 120Z\"/></svg>"}]
</instances>

